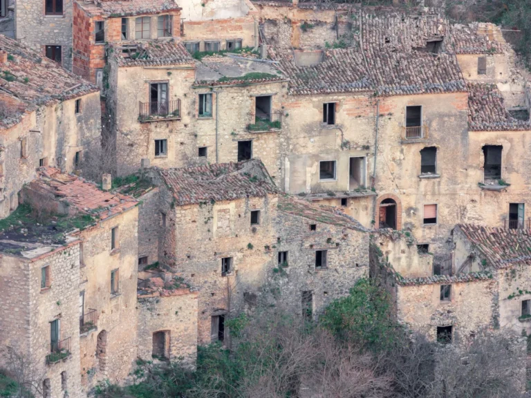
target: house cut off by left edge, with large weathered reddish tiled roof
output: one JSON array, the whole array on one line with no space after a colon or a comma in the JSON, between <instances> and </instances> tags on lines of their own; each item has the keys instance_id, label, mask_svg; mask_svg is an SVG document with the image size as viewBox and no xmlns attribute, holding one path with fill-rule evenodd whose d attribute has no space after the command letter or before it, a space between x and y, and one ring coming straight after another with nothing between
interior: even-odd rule
<instances>
[{"instance_id":1,"label":"house cut off by left edge, with large weathered reddish tiled roof","mask_svg":"<svg viewBox=\"0 0 531 398\"><path fill-rule=\"evenodd\" d=\"M81 170L84 151L100 146L96 86L17 41L0 35L0 216L39 166Z\"/></svg>"}]
</instances>

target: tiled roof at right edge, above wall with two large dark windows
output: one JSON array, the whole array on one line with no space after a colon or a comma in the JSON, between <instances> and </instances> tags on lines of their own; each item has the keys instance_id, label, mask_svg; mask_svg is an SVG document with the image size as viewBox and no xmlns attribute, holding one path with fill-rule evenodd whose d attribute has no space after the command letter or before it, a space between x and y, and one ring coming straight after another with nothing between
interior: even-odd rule
<instances>
[{"instance_id":1,"label":"tiled roof at right edge, above wall with two large dark windows","mask_svg":"<svg viewBox=\"0 0 531 398\"><path fill-rule=\"evenodd\" d=\"M468 124L472 131L530 130L530 121L507 112L496 84L468 83Z\"/></svg>"}]
</instances>

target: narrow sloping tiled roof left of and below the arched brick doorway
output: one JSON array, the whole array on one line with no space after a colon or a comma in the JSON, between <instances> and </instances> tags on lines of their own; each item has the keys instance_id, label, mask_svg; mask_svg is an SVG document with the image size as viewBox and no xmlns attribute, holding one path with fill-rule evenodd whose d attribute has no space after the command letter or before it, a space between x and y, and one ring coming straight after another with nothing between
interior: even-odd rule
<instances>
[{"instance_id":1,"label":"narrow sloping tiled roof left of and below the arched brick doorway","mask_svg":"<svg viewBox=\"0 0 531 398\"><path fill-rule=\"evenodd\" d=\"M308 203L288 195L279 196L278 209L294 216L301 216L317 222L339 225L350 229L366 231L366 229L354 218L344 214L334 207Z\"/></svg>"}]
</instances>

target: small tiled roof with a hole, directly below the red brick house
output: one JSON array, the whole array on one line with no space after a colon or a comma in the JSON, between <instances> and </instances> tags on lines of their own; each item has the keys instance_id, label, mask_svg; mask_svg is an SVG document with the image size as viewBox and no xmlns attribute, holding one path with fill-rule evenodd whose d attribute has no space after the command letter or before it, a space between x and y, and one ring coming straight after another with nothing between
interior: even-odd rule
<instances>
[{"instance_id":1,"label":"small tiled roof with a hole, directly below the red brick house","mask_svg":"<svg viewBox=\"0 0 531 398\"><path fill-rule=\"evenodd\" d=\"M114 57L120 66L194 64L195 62L185 46L175 39L128 43L129 48L136 46L136 50L131 50L131 57L122 56L120 44L111 44L111 46L113 46Z\"/></svg>"}]
</instances>

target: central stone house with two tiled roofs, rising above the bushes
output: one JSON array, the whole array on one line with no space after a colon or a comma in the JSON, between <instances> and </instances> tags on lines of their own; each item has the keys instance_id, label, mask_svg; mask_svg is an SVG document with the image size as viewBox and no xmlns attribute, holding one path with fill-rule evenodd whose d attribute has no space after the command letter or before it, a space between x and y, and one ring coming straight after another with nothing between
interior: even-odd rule
<instances>
[{"instance_id":1,"label":"central stone house with two tiled roofs, rising above the bushes","mask_svg":"<svg viewBox=\"0 0 531 398\"><path fill-rule=\"evenodd\" d=\"M140 197L142 217L160 222L151 261L198 290L200 344L225 340L225 317L259 302L313 318L368 274L360 223L279 193L259 160L151 174L158 196Z\"/></svg>"}]
</instances>

